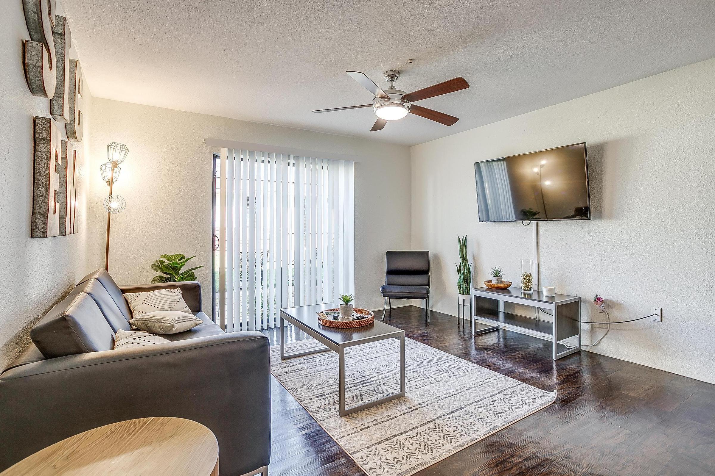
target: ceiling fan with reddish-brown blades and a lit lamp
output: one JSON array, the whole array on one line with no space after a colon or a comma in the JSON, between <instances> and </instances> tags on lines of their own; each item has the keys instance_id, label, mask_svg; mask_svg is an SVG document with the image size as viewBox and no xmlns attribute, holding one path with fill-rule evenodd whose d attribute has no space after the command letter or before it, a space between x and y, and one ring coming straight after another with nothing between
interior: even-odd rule
<instances>
[{"instance_id":1,"label":"ceiling fan with reddish-brown blades and a lit lamp","mask_svg":"<svg viewBox=\"0 0 715 476\"><path fill-rule=\"evenodd\" d=\"M365 89L375 95L373 103L363 104L361 106L347 106L345 108L318 109L313 112L344 111L345 109L369 108L372 106L373 111L375 111L375 114L378 116L378 120L375 121L375 125L370 131L380 131L380 129L385 127L388 121L401 119L407 116L408 113L428 118L432 121L442 123L445 126L451 126L453 123L459 121L459 118L434 111L433 109L417 106L413 104L413 102L420 101L420 99L433 98L434 96L442 96L443 94L453 93L454 91L460 91L461 89L469 87L469 83L465 81L464 78L458 77L444 81L443 83L433 84L432 86L412 93L405 93L405 91L400 91L395 88L395 81L400 77L400 71L391 69L390 71L385 71L385 81L390 83L390 87L387 91L383 91L377 84L373 83L368 76L365 76L364 73L360 73L360 71L346 72L352 79L358 81Z\"/></svg>"}]
</instances>

